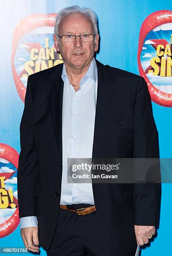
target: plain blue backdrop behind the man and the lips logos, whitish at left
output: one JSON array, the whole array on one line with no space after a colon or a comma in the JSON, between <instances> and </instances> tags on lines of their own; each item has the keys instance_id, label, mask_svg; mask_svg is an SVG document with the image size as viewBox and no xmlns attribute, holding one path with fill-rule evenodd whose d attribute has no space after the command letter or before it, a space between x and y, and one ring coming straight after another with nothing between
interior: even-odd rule
<instances>
[{"instance_id":1,"label":"plain blue backdrop behind the man and the lips logos, whitish at left","mask_svg":"<svg viewBox=\"0 0 172 256\"><path fill-rule=\"evenodd\" d=\"M139 31L147 16L158 10L171 10L171 0L164 3L161 0L6 0L1 2L0 8L0 143L14 148L20 153L19 125L23 113L24 103L20 99L15 87L11 68L11 54L13 33L20 20L35 13L57 13L61 8L80 5L95 10L99 20L100 51L96 58L103 64L125 69L139 74L137 51ZM153 39L153 38L152 38ZM161 158L172 157L172 108L160 106L152 102L154 119L159 132L159 148ZM1 147L0 147L1 148ZM1 148L2 150L2 148ZM0 155L0 157L3 157ZM5 157L4 157L5 158ZM0 167L4 166L3 162ZM7 168L15 169L15 164ZM5 171L6 170L6 171ZM1 170L2 172L2 170ZM13 174L13 181L7 184L13 188L17 198L17 174ZM11 178L12 179L12 178ZM172 229L172 184L162 184L162 203L160 225L157 238L151 246L142 250L142 256L170 255ZM11 212L12 213L12 212ZM0 224L4 221L5 209L0 209ZM1 232L2 230L0 230ZM125 239L124 239L125 242ZM20 225L8 236L1 238L0 247L24 247L20 238ZM41 255L46 255L41 248Z\"/></svg>"}]
</instances>

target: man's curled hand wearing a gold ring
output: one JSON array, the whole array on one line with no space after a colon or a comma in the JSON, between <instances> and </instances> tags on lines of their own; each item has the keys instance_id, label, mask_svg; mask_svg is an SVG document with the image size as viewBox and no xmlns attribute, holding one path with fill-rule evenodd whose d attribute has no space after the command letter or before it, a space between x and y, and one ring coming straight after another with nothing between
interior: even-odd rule
<instances>
[{"instance_id":1,"label":"man's curled hand wearing a gold ring","mask_svg":"<svg viewBox=\"0 0 172 256\"><path fill-rule=\"evenodd\" d=\"M154 226L138 226L134 225L137 244L143 246L145 243L149 243L149 238L155 234Z\"/></svg>"}]
</instances>

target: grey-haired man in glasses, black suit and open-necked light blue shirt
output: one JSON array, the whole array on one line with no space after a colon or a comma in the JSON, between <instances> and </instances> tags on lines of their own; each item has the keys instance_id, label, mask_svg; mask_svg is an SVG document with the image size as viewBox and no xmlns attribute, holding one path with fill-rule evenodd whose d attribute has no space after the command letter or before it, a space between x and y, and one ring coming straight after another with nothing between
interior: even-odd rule
<instances>
[{"instance_id":1,"label":"grey-haired man in glasses, black suit and open-necked light blue shirt","mask_svg":"<svg viewBox=\"0 0 172 256\"><path fill-rule=\"evenodd\" d=\"M28 77L20 124L23 242L49 256L134 256L155 233L159 185L67 184L66 159L159 157L147 84L94 59L90 9L61 10L54 41L64 64Z\"/></svg>"}]
</instances>

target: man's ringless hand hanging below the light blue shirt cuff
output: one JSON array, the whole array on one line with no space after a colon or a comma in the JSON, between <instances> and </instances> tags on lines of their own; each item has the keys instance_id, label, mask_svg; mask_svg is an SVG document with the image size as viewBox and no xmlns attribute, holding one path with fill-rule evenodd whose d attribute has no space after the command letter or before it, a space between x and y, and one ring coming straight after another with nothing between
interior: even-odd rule
<instances>
[{"instance_id":1,"label":"man's ringless hand hanging below the light blue shirt cuff","mask_svg":"<svg viewBox=\"0 0 172 256\"><path fill-rule=\"evenodd\" d=\"M27 248L29 251L39 252L37 227L21 228L20 235L23 239L25 248Z\"/></svg>"}]
</instances>

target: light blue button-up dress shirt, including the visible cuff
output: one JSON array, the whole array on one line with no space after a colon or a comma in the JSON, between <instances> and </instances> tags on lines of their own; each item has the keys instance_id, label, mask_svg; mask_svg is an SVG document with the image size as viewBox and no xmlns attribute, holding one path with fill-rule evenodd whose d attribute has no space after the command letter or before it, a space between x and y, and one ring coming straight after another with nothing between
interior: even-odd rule
<instances>
[{"instance_id":1,"label":"light blue button-up dress shirt, including the visible cuff","mask_svg":"<svg viewBox=\"0 0 172 256\"><path fill-rule=\"evenodd\" d=\"M93 59L76 92L63 64L64 82L62 109L63 172L61 205L86 203L94 205L91 183L67 183L67 159L91 158L97 100L97 67ZM36 216L20 218L20 229L38 227Z\"/></svg>"}]
</instances>

